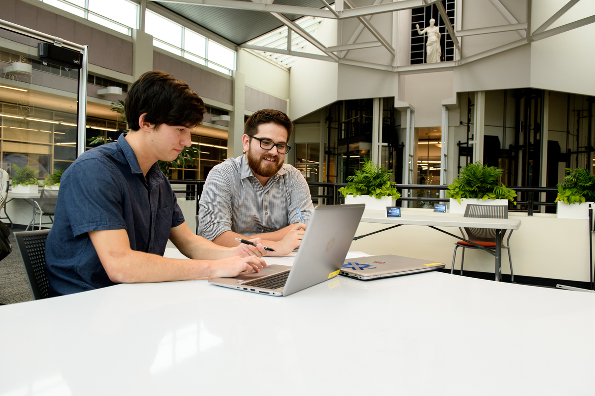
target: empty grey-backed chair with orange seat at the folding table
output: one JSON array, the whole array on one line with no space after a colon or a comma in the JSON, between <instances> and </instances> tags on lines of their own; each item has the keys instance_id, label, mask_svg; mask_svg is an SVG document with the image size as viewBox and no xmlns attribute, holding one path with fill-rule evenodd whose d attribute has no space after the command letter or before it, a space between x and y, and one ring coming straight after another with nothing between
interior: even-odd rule
<instances>
[{"instance_id":1,"label":"empty grey-backed chair with orange seat at the folding table","mask_svg":"<svg viewBox=\"0 0 595 396\"><path fill-rule=\"evenodd\" d=\"M480 217L480 218L508 218L508 206L507 205L474 205L468 204L465 208L465 217ZM467 228L465 230L459 228L463 237L466 240L471 240L478 245L484 246L488 249L496 249L496 230L486 228ZM502 249L508 251L508 262L511 266L511 281L515 281L515 274L512 271L512 258L511 249L508 241L511 239L513 230L509 230L508 237L506 237L506 230L502 230ZM505 241L506 237L506 242ZM465 249L481 249L471 245L471 243L459 240L455 243L455 252L452 255L452 267L450 267L450 273L452 274L455 270L455 259L456 249L463 248L463 254L461 256L461 275L463 274L463 264L465 261Z\"/></svg>"}]
</instances>

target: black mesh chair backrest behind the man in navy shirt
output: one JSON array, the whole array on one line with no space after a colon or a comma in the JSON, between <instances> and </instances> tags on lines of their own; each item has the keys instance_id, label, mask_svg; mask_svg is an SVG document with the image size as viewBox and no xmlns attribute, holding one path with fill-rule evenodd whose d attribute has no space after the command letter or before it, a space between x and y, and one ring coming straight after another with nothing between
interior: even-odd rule
<instances>
[{"instance_id":1,"label":"black mesh chair backrest behind the man in navy shirt","mask_svg":"<svg viewBox=\"0 0 595 396\"><path fill-rule=\"evenodd\" d=\"M15 232L17 249L25 267L31 294L36 300L48 297L49 282L45 273L45 240L48 230Z\"/></svg>"}]
</instances>

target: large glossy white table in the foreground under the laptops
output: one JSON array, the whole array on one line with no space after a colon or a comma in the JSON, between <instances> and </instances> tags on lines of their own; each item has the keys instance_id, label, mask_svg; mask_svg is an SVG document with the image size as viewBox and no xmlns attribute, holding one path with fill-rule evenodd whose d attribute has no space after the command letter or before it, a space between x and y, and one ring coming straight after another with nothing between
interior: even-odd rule
<instances>
[{"instance_id":1,"label":"large glossy white table in the foreground under the laptops","mask_svg":"<svg viewBox=\"0 0 595 396\"><path fill-rule=\"evenodd\" d=\"M0 306L0 395L586 395L594 328L595 294L437 272L122 284Z\"/></svg>"}]
</instances>

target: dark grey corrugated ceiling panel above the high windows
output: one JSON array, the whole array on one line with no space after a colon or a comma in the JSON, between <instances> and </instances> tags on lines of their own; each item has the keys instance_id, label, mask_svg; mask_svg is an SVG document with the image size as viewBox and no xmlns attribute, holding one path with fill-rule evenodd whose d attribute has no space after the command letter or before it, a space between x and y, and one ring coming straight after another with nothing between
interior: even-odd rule
<instances>
[{"instance_id":1,"label":"dark grey corrugated ceiling panel above the high windows","mask_svg":"<svg viewBox=\"0 0 595 396\"><path fill-rule=\"evenodd\" d=\"M250 0L235 0L250 2ZM163 7L193 21L200 26L217 33L219 36L240 45L278 27L284 26L278 18L268 12L250 11L226 7L208 7L205 5L187 4L188 2L161 2ZM271 1L272 3L272 1ZM320 0L275 0L275 5L296 7L324 8ZM333 4L333 2L331 2ZM303 15L283 14L290 21Z\"/></svg>"}]
</instances>

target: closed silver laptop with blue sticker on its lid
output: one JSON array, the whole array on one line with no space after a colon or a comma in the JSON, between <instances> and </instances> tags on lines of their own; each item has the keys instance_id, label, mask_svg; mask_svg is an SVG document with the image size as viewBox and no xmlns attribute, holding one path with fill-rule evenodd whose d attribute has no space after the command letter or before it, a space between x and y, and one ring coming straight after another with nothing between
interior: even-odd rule
<instances>
[{"instance_id":1,"label":"closed silver laptop with blue sticker on its lid","mask_svg":"<svg viewBox=\"0 0 595 396\"><path fill-rule=\"evenodd\" d=\"M371 280L423 273L425 271L436 270L437 268L444 268L444 264L436 261L389 254L346 260L340 274L355 279Z\"/></svg>"}]
</instances>

